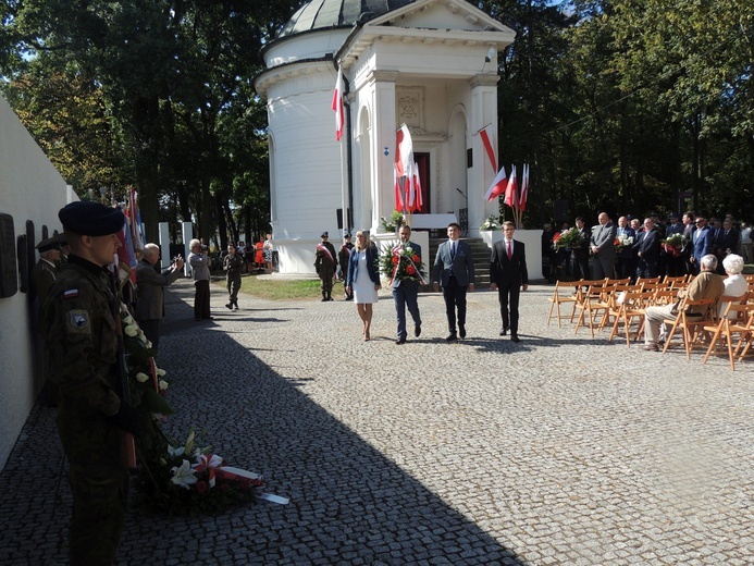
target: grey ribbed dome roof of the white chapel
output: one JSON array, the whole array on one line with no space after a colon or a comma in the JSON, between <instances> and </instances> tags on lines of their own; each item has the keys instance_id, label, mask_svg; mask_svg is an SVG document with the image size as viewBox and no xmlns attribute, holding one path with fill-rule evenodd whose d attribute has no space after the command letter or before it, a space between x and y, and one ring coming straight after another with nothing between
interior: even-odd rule
<instances>
[{"instance_id":1,"label":"grey ribbed dome roof of the white chapel","mask_svg":"<svg viewBox=\"0 0 754 566\"><path fill-rule=\"evenodd\" d=\"M288 20L277 35L283 39L314 29L351 27L363 24L416 0L311 0Z\"/></svg>"}]
</instances>

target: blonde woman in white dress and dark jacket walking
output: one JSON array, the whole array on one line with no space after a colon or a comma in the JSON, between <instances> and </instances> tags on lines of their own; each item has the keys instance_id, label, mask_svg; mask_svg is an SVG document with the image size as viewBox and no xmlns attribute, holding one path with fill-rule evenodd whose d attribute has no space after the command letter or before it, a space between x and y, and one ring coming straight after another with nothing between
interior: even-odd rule
<instances>
[{"instance_id":1,"label":"blonde woman in white dress and dark jacket walking","mask_svg":"<svg viewBox=\"0 0 754 566\"><path fill-rule=\"evenodd\" d=\"M369 232L359 230L348 260L346 292L354 294L356 310L363 322L361 334L364 341L371 337L369 330L372 324L372 305L378 302L378 291L381 287L379 253L369 241Z\"/></svg>"}]
</instances>

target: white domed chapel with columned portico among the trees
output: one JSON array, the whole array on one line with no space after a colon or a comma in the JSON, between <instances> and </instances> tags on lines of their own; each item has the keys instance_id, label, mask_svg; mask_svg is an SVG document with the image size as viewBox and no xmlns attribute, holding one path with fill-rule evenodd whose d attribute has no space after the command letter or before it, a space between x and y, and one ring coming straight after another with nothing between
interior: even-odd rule
<instances>
[{"instance_id":1,"label":"white domed chapel with columned portico among the trees","mask_svg":"<svg viewBox=\"0 0 754 566\"><path fill-rule=\"evenodd\" d=\"M497 216L483 196L495 171L479 131L497 148L497 53L515 34L465 0L311 0L265 46L255 79L267 100L271 221L280 270L313 273L314 247L330 232L369 230L396 208L396 131L406 124L423 207L412 227L468 236ZM335 137L331 108L338 63L346 122ZM347 211L343 214L343 211ZM425 258L425 261L430 258Z\"/></svg>"}]
</instances>

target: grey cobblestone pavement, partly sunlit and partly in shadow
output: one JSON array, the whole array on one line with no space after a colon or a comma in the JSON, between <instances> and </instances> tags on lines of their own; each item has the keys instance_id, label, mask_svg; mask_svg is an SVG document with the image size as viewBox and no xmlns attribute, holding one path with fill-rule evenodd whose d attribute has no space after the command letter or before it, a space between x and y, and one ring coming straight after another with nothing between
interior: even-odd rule
<instances>
[{"instance_id":1,"label":"grey cobblestone pavement, partly sunlit and partly in shadow","mask_svg":"<svg viewBox=\"0 0 754 566\"><path fill-rule=\"evenodd\" d=\"M120 564L754 563L751 362L547 327L544 285L522 295L520 344L482 291L467 340L445 342L429 294L403 346L387 292L364 343L351 303L243 296L230 312L215 286L214 320L195 323L190 282L172 288L166 430L206 429L291 503L132 509ZM38 406L0 473L0 564L64 564L60 470L54 409Z\"/></svg>"}]
</instances>

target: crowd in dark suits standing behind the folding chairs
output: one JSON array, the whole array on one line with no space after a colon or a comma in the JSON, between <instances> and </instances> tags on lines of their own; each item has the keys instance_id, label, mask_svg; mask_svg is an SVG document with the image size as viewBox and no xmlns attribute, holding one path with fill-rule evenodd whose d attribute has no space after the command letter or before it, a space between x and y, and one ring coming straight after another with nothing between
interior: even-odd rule
<instances>
[{"instance_id":1,"label":"crowd in dark suits standing behind the folding chairs","mask_svg":"<svg viewBox=\"0 0 754 566\"><path fill-rule=\"evenodd\" d=\"M660 218L651 212L645 218L620 216L617 222L601 212L591 230L584 219L576 219L576 227L566 222L556 232L552 223L543 226L543 272L551 281L559 276L574 280L603 278L638 278L696 275L702 257L717 258L717 272L730 254L754 263L751 224L738 222L732 214L706 217L694 211L682 216L671 212ZM576 245L560 246L557 239L568 232L578 232ZM568 239L571 242L571 239ZM591 269L590 269L591 260Z\"/></svg>"}]
</instances>

